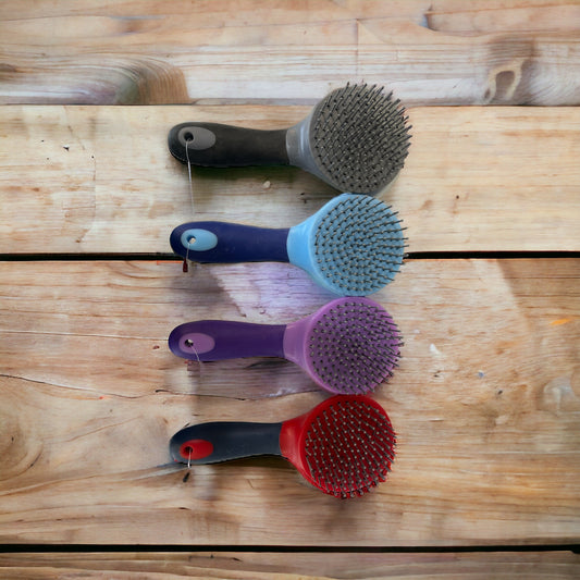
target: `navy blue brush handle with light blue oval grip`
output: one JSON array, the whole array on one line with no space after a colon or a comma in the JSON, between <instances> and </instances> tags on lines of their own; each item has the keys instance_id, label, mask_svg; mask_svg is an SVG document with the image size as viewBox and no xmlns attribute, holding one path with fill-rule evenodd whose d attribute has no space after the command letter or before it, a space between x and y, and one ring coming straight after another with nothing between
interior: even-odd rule
<instances>
[{"instance_id":1,"label":"navy blue brush handle with light blue oval grip","mask_svg":"<svg viewBox=\"0 0 580 580\"><path fill-rule=\"evenodd\" d=\"M197 262L287 262L288 229L256 227L227 222L189 222L171 233L176 254Z\"/></svg>"}]
</instances>

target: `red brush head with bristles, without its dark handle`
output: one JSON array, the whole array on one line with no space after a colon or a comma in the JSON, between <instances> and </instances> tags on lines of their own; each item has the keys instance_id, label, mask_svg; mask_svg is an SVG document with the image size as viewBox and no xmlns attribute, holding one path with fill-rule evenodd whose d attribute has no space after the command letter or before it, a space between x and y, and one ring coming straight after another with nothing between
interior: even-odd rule
<instances>
[{"instance_id":1,"label":"red brush head with bristles, without its dark handle","mask_svg":"<svg viewBox=\"0 0 580 580\"><path fill-rule=\"evenodd\" d=\"M316 488L356 497L385 481L395 432L384 409L366 395L337 395L285 421L282 455Z\"/></svg>"}]
</instances>

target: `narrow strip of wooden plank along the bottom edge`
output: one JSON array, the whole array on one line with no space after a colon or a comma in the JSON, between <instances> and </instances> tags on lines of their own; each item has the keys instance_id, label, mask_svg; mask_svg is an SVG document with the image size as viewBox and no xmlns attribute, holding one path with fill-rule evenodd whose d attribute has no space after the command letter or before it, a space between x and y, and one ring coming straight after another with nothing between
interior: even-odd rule
<instances>
[{"instance_id":1,"label":"narrow strip of wooden plank along the bottom edge","mask_svg":"<svg viewBox=\"0 0 580 580\"><path fill-rule=\"evenodd\" d=\"M307 580L314 578L439 579L514 577L529 580L578 578L580 556L570 552L507 553L121 553L121 554L0 554L4 580L62 578L231 578Z\"/></svg>"}]
</instances>

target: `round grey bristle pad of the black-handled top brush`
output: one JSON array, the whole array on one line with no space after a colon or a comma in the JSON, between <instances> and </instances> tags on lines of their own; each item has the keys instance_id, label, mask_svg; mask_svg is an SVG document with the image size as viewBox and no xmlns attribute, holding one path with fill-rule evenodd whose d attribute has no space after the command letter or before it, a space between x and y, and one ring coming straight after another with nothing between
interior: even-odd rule
<instances>
[{"instance_id":1,"label":"round grey bristle pad of the black-handled top brush","mask_svg":"<svg viewBox=\"0 0 580 580\"><path fill-rule=\"evenodd\" d=\"M342 192L379 192L405 163L410 139L405 109L382 90L347 85L322 99L312 113L312 153Z\"/></svg>"}]
</instances>

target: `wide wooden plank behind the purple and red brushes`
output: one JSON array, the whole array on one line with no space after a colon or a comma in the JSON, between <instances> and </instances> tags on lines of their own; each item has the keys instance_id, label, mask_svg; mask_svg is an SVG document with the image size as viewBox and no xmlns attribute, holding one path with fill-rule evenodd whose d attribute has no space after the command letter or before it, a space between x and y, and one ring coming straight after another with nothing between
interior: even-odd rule
<instances>
[{"instance_id":1,"label":"wide wooden plank behind the purple and red brushes","mask_svg":"<svg viewBox=\"0 0 580 580\"><path fill-rule=\"evenodd\" d=\"M283 460L176 470L185 423L277 421L323 394L289 362L187 371L185 320L289 322L328 300L283 264L4 262L3 543L417 546L580 536L580 260L421 260L374 295L404 358L378 390L398 432L357 501Z\"/></svg>"}]
</instances>

